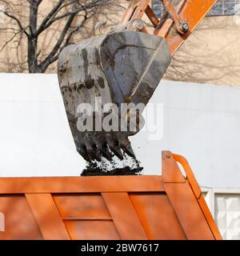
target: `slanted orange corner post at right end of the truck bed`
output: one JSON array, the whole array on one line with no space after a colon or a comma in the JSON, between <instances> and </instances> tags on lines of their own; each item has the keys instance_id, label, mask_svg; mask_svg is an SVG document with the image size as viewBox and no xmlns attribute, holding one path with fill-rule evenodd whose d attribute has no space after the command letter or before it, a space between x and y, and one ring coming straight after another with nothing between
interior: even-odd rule
<instances>
[{"instance_id":1,"label":"slanted orange corner post at right end of the truck bed","mask_svg":"<svg viewBox=\"0 0 240 256\"><path fill-rule=\"evenodd\" d=\"M174 176L178 176L178 174L181 173L181 170L176 164L174 155L170 152L163 152L162 158L165 159L165 161L163 161L164 164L162 165L163 177L168 172L170 166L172 166L172 168L170 168L172 182L170 182L170 178L163 178L163 184L171 205L182 224L186 237L194 240L214 239L214 234L212 233L212 230L210 230L208 222L206 222L205 215L202 214L201 207L198 205L194 190L192 190L188 182L183 182L182 179L174 178ZM186 165L183 167L186 168ZM198 186L198 183L194 183L194 186ZM198 223L198 229L193 229L195 223Z\"/></svg>"}]
</instances>

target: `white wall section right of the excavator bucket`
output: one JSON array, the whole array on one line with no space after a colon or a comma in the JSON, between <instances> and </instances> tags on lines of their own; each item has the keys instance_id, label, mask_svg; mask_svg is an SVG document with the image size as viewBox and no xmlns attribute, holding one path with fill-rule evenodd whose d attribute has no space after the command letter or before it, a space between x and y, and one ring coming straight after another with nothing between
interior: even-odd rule
<instances>
[{"instance_id":1,"label":"white wall section right of the excavator bucket","mask_svg":"<svg viewBox=\"0 0 240 256\"><path fill-rule=\"evenodd\" d=\"M150 150L142 162L157 173L158 149L171 150L188 159L201 186L240 187L239 98L239 87L162 81L150 102L163 103L163 138L142 142Z\"/></svg>"}]
</instances>

